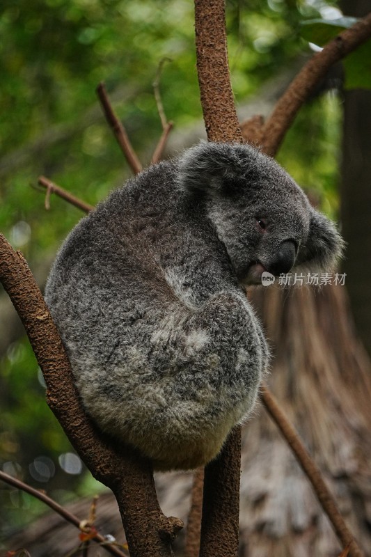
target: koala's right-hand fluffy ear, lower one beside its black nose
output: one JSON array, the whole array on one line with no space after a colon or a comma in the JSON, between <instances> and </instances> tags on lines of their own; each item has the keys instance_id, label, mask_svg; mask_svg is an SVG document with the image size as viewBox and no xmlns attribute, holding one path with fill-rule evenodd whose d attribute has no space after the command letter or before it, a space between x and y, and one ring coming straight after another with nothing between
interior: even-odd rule
<instances>
[{"instance_id":1,"label":"koala's right-hand fluffy ear, lower one beside its black nose","mask_svg":"<svg viewBox=\"0 0 371 557\"><path fill-rule=\"evenodd\" d=\"M340 260L344 247L345 242L335 224L324 214L311 208L308 239L299 249L297 265L329 271Z\"/></svg>"}]
</instances>

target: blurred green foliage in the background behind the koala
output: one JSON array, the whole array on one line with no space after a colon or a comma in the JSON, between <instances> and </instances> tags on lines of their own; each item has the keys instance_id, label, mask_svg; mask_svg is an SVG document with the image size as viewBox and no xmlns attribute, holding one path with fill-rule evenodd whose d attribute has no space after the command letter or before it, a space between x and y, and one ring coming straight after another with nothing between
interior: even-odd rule
<instances>
[{"instance_id":1,"label":"blurred green foliage in the background behind the koala","mask_svg":"<svg viewBox=\"0 0 371 557\"><path fill-rule=\"evenodd\" d=\"M300 22L329 15L334 4L227 2L237 104L309 51ZM166 116L179 130L202 118L194 7L191 0L3 0L0 36L0 231L22 249L31 269L43 265L47 272L81 212L54 196L46 211L44 194L30 187L38 175L93 205L129 175L98 107L100 81L145 164L161 133L152 83L162 58L171 58L160 83ZM339 125L336 95L313 100L279 155L301 185L319 197L326 194L324 208L332 214L338 203ZM0 357L0 466L58 501L99 489L86 473L71 474L61 466L61 455L73 450L47 408L27 340L15 339ZM3 533L40 510L29 496L0 483Z\"/></svg>"}]
</instances>

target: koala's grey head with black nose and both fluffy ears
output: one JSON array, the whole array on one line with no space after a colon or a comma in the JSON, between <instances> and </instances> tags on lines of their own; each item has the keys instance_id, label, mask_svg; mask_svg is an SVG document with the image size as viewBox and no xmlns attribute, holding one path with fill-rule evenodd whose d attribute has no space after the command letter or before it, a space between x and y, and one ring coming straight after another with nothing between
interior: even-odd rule
<instances>
[{"instance_id":1,"label":"koala's grey head with black nose and both fluffy ears","mask_svg":"<svg viewBox=\"0 0 371 557\"><path fill-rule=\"evenodd\" d=\"M274 159L240 143L199 143L180 158L178 185L202 196L239 282L303 265L329 271L343 242L334 224Z\"/></svg>"}]
</instances>

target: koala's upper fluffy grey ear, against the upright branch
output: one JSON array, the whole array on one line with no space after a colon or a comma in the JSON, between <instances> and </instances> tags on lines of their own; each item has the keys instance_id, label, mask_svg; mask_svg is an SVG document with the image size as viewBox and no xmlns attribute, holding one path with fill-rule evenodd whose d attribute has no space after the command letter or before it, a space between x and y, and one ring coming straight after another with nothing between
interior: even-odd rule
<instances>
[{"instance_id":1,"label":"koala's upper fluffy grey ear, against the upright branch","mask_svg":"<svg viewBox=\"0 0 371 557\"><path fill-rule=\"evenodd\" d=\"M178 162L177 185L189 191L210 193L237 186L246 180L246 169L256 154L240 143L201 141L188 149Z\"/></svg>"}]
</instances>

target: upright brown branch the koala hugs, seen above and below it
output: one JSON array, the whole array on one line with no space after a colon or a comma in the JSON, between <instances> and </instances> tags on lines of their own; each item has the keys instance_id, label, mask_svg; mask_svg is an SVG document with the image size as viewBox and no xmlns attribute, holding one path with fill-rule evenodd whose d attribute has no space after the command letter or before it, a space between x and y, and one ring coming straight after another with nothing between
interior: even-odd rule
<instances>
[{"instance_id":1,"label":"upright brown branch the koala hugs, seen above and below it","mask_svg":"<svg viewBox=\"0 0 371 557\"><path fill-rule=\"evenodd\" d=\"M224 0L195 0L198 83L207 139L242 142L228 67ZM205 467L200 557L238 551L241 427Z\"/></svg>"}]
</instances>

